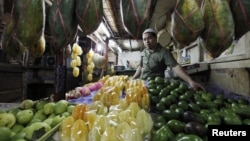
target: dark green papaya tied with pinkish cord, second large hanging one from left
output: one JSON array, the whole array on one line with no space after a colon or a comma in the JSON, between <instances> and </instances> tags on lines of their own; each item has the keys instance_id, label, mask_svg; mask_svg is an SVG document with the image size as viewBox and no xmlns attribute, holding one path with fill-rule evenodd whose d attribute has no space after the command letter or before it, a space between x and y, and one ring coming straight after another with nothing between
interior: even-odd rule
<instances>
[{"instance_id":1,"label":"dark green papaya tied with pinkish cord, second large hanging one from left","mask_svg":"<svg viewBox=\"0 0 250 141\"><path fill-rule=\"evenodd\" d=\"M72 43L77 35L75 0L54 0L49 11L51 51L56 53Z\"/></svg>"}]
</instances>

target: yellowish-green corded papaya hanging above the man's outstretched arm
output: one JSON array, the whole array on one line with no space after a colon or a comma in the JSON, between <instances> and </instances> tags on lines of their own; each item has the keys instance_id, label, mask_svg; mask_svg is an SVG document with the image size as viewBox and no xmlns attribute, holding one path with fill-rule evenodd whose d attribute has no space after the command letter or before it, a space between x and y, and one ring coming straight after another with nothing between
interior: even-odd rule
<instances>
[{"instance_id":1,"label":"yellowish-green corded papaya hanging above the man's outstretched arm","mask_svg":"<svg viewBox=\"0 0 250 141\"><path fill-rule=\"evenodd\" d=\"M196 0L178 0L171 18L171 33L174 40L187 46L199 37L203 28L204 21Z\"/></svg>"}]
</instances>

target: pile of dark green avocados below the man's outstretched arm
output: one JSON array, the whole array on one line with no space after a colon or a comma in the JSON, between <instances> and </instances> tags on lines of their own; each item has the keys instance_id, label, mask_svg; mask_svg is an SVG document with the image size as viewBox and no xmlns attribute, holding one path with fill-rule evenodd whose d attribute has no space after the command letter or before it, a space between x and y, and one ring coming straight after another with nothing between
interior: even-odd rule
<instances>
[{"instance_id":1,"label":"pile of dark green avocados below the man's outstretched arm","mask_svg":"<svg viewBox=\"0 0 250 141\"><path fill-rule=\"evenodd\" d=\"M179 81L149 77L154 119L152 141L207 140L209 125L250 125L249 101L193 91Z\"/></svg>"}]
</instances>

